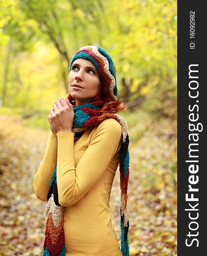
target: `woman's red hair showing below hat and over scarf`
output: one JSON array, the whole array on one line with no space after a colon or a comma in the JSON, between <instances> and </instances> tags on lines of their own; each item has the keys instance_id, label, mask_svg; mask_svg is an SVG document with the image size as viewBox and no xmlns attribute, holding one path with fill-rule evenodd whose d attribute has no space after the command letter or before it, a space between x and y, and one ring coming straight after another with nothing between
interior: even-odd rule
<instances>
[{"instance_id":1,"label":"woman's red hair showing below hat and over scarf","mask_svg":"<svg viewBox=\"0 0 207 256\"><path fill-rule=\"evenodd\" d=\"M73 103L75 102L74 101L75 98L73 98L70 95L70 93L68 93L66 98L73 105ZM95 102L95 101L98 101L98 100L102 100L103 102L105 102L105 104L103 105L103 108L101 110L102 113L106 113L106 112L117 113L119 111L126 110L126 108L128 107L127 104L123 103L123 99L118 99L116 101L112 101L110 99L107 99L103 94L103 90L102 90L101 85L98 87L98 91L97 91L96 95L92 98L91 102Z\"/></svg>"}]
</instances>

